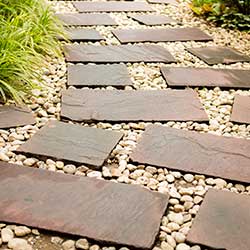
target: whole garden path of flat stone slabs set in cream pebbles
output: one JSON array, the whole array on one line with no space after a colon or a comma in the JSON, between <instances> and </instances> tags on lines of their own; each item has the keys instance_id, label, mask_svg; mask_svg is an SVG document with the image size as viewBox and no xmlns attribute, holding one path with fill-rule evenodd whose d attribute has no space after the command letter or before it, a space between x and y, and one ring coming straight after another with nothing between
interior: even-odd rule
<instances>
[{"instance_id":1,"label":"whole garden path of flat stone slabs set in cream pebbles","mask_svg":"<svg viewBox=\"0 0 250 250\"><path fill-rule=\"evenodd\" d=\"M182 1L98 1L52 3L74 43L35 125L0 107L0 249L248 249L246 36Z\"/></svg>"}]
</instances>

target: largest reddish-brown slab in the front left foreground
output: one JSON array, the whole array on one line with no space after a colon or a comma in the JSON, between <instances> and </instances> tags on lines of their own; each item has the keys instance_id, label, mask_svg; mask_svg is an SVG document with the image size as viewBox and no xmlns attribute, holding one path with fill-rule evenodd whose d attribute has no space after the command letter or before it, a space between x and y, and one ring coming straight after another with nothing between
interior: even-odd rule
<instances>
[{"instance_id":1,"label":"largest reddish-brown slab in the front left foreground","mask_svg":"<svg viewBox=\"0 0 250 250\"><path fill-rule=\"evenodd\" d=\"M84 152L84 151L83 151ZM0 221L150 249L168 195L0 163Z\"/></svg>"}]
</instances>

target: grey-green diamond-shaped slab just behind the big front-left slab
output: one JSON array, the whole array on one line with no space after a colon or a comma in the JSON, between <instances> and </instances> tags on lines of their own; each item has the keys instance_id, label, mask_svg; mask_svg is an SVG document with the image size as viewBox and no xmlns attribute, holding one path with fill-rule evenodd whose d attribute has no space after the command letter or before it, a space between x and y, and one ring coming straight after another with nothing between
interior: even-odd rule
<instances>
[{"instance_id":1,"label":"grey-green diamond-shaped slab just behind the big front-left slab","mask_svg":"<svg viewBox=\"0 0 250 250\"><path fill-rule=\"evenodd\" d=\"M101 167L122 133L51 121L17 151Z\"/></svg>"}]
</instances>

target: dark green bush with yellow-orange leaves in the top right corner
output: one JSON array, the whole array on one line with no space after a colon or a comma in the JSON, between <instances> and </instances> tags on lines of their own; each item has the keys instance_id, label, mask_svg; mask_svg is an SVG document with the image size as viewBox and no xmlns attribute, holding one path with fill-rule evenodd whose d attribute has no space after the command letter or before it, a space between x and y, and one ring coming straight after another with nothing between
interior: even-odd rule
<instances>
[{"instance_id":1,"label":"dark green bush with yellow-orange leaves in the top right corner","mask_svg":"<svg viewBox=\"0 0 250 250\"><path fill-rule=\"evenodd\" d=\"M190 8L223 28L250 30L250 0L193 0Z\"/></svg>"}]
</instances>

